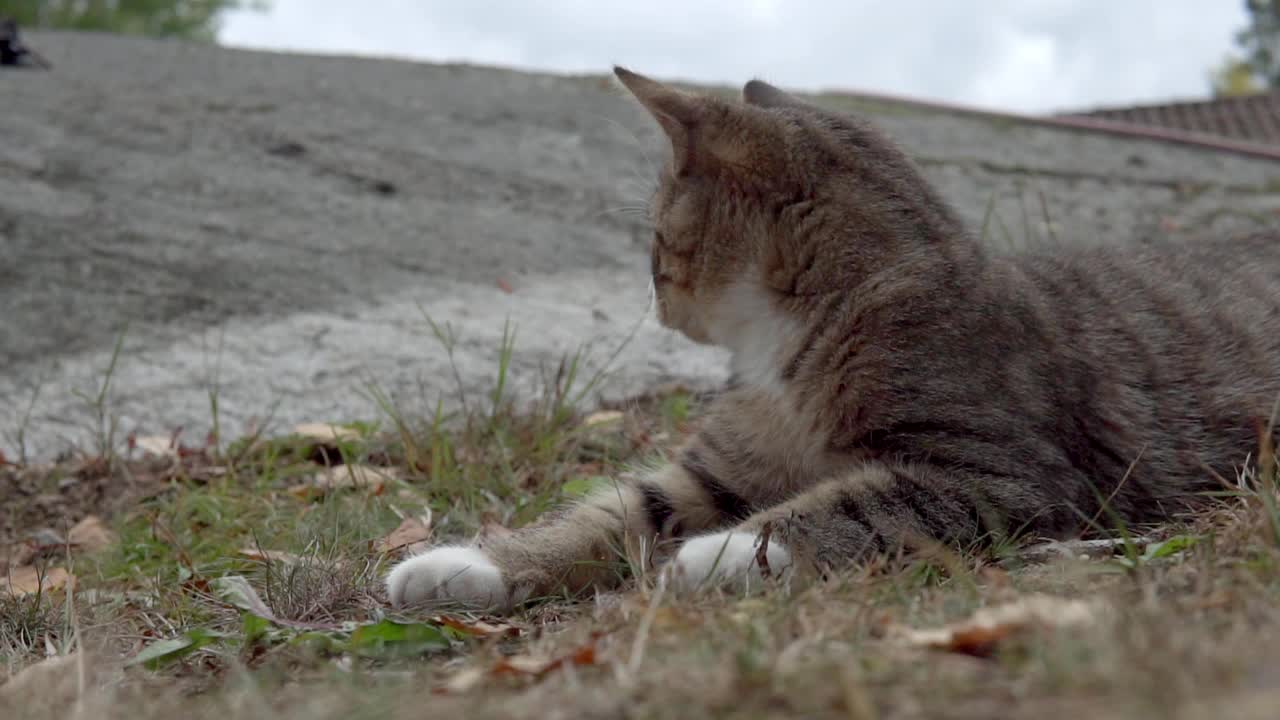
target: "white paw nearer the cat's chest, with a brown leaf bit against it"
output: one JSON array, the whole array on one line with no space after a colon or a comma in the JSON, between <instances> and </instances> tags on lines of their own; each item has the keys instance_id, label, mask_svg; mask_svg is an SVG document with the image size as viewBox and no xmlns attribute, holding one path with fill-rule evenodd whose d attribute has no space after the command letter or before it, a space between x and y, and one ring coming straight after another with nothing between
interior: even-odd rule
<instances>
[{"instance_id":1,"label":"white paw nearer the cat's chest, with a brown leaf bit against it","mask_svg":"<svg viewBox=\"0 0 1280 720\"><path fill-rule=\"evenodd\" d=\"M672 587L677 592L699 588L723 588L748 593L764 585L764 575L755 561L759 548L755 533L713 533L689 539L671 561ZM772 578L791 574L791 553L776 541L765 551Z\"/></svg>"}]
</instances>

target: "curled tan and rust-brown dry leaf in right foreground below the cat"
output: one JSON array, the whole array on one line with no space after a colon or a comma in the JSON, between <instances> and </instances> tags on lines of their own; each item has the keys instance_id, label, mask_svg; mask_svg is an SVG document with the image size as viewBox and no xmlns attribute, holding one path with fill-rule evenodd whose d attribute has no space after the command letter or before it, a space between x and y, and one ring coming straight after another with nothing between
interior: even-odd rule
<instances>
[{"instance_id":1,"label":"curled tan and rust-brown dry leaf in right foreground below the cat","mask_svg":"<svg viewBox=\"0 0 1280 720\"><path fill-rule=\"evenodd\" d=\"M891 628L888 637L913 647L987 657L1001 641L1014 634L1093 623L1100 611L1096 603L1083 600L1029 594L1006 605L983 607L969 619L943 628Z\"/></svg>"}]
</instances>

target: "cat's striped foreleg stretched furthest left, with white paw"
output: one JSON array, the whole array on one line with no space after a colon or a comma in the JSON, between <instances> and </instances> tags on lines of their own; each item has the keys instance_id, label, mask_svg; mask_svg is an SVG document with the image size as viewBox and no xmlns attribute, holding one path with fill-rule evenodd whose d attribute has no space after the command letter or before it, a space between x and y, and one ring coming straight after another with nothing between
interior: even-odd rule
<instances>
[{"instance_id":1,"label":"cat's striped foreleg stretched furthest left, with white paw","mask_svg":"<svg viewBox=\"0 0 1280 720\"><path fill-rule=\"evenodd\" d=\"M649 565L669 541L746 519L762 505L742 480L759 473L739 470L709 437L704 430L676 462L594 491L532 525L402 561L387 578L392 603L502 611L529 597L607 588L625 575L626 560Z\"/></svg>"}]
</instances>

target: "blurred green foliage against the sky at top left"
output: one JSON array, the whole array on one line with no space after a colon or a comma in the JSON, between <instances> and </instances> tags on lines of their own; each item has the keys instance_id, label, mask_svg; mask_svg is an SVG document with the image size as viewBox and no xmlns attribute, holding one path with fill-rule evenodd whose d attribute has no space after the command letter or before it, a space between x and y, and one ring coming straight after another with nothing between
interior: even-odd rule
<instances>
[{"instance_id":1,"label":"blurred green foliage against the sky at top left","mask_svg":"<svg viewBox=\"0 0 1280 720\"><path fill-rule=\"evenodd\" d=\"M0 0L0 17L22 27L212 41L223 13L266 8L266 0Z\"/></svg>"}]
</instances>

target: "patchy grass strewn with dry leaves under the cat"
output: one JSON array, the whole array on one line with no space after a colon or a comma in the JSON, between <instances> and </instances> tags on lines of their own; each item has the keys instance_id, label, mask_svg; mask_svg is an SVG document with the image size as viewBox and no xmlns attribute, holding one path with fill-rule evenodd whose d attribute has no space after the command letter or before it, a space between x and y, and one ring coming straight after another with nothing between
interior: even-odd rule
<instances>
[{"instance_id":1,"label":"patchy grass strewn with dry leaves under the cat","mask_svg":"<svg viewBox=\"0 0 1280 720\"><path fill-rule=\"evenodd\" d=\"M393 612L380 579L403 551L380 541L406 518L430 515L433 542L520 527L650 461L698 416L700 398L676 391L584 418L572 401L589 380L575 359L517 407L500 389L512 347L508 333L494 392L458 416L412 418L371 384L385 418L340 437L23 469L96 471L145 492L111 515L106 547L41 559L69 564L73 591L0 596L0 678L33 669L0 685L0 716L65 717L77 703L131 720L1234 719L1280 707L1280 510L1266 446L1212 511L1126 529L1155 539L1101 559L937 550L750 598L676 600L644 582L511 619ZM312 478L326 466L383 475L325 489ZM1105 610L977 656L895 634L1033 593Z\"/></svg>"}]
</instances>

